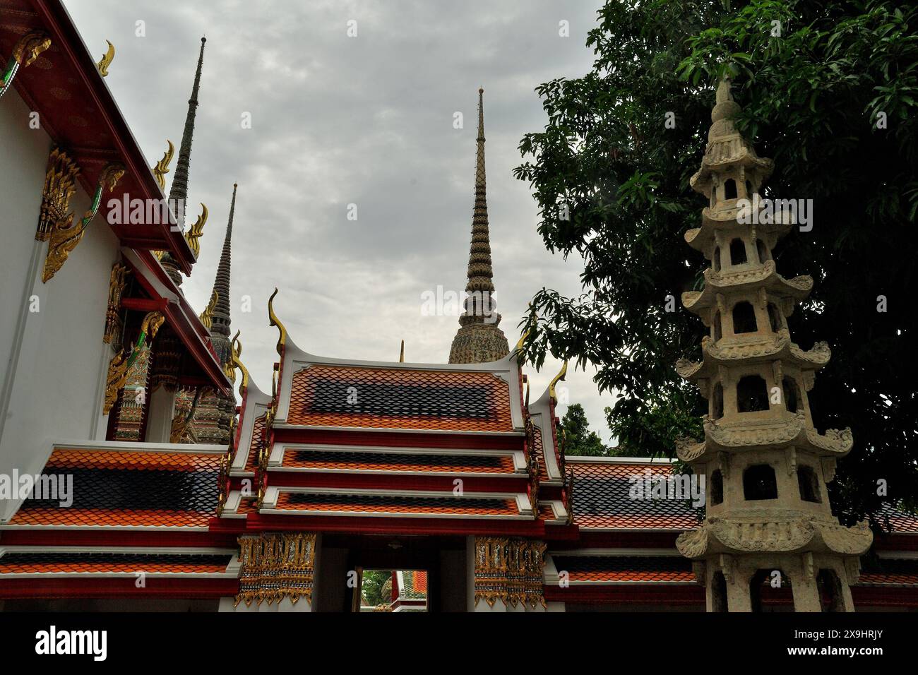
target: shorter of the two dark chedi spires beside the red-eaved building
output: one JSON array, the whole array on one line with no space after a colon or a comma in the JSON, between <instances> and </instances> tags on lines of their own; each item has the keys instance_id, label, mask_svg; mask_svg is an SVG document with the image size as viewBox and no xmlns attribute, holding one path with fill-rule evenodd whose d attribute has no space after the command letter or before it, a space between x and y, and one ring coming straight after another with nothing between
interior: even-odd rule
<instances>
[{"instance_id":1,"label":"shorter of the two dark chedi spires beside the red-eaved building","mask_svg":"<svg viewBox=\"0 0 918 675\"><path fill-rule=\"evenodd\" d=\"M232 345L229 340L229 264L232 250L232 221L236 212L236 190L232 186L232 200L229 202L227 233L223 239L223 250L217 264L217 277L210 297L216 298L210 314L210 343L217 353L220 366L229 379L233 379ZM225 444L229 442L230 422L236 416L235 399L207 391L201 397L194 415L198 443Z\"/></svg>"}]
</instances>

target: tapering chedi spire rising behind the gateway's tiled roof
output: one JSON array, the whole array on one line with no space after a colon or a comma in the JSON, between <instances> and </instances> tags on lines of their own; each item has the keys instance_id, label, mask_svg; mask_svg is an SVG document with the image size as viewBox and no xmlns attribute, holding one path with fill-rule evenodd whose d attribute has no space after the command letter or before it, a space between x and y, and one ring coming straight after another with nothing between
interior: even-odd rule
<instances>
[{"instance_id":1,"label":"tapering chedi spire rising behind the gateway's tiled roof","mask_svg":"<svg viewBox=\"0 0 918 675\"><path fill-rule=\"evenodd\" d=\"M472 216L472 245L468 257L468 283L465 285L465 312L459 317L459 331L450 349L451 364L483 364L509 354L509 344L500 330L500 315L495 310L494 270L491 268L491 242L487 227L487 189L485 181L485 90L478 89L478 137L475 167L475 210Z\"/></svg>"}]
</instances>

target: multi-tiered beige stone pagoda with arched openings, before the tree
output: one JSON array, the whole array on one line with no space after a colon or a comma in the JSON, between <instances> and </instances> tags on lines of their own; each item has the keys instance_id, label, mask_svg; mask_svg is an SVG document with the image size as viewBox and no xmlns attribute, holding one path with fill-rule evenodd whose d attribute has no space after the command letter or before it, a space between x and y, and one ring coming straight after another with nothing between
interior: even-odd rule
<instances>
[{"instance_id":1,"label":"multi-tiered beige stone pagoda with arched openings, before the tree","mask_svg":"<svg viewBox=\"0 0 918 675\"><path fill-rule=\"evenodd\" d=\"M756 611L780 584L798 612L851 612L849 587L872 534L867 523L838 523L826 483L852 436L813 427L808 392L829 347L804 351L791 342L786 317L809 295L812 277L778 274L771 252L793 219L762 209L759 190L774 164L734 128L740 109L723 80L690 181L710 204L685 239L712 265L704 288L683 293L682 304L711 335L701 341L700 362L676 367L710 408L704 441L680 442L677 455L706 478L707 503L704 523L681 534L677 548L696 561L709 611Z\"/></svg>"}]
</instances>

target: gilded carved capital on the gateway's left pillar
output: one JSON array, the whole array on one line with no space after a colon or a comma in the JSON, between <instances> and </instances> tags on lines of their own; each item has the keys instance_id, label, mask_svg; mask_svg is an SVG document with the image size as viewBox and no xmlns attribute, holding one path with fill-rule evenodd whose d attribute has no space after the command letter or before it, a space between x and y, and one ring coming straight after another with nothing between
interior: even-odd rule
<instances>
[{"instance_id":1,"label":"gilded carved capital on the gateway's left pillar","mask_svg":"<svg viewBox=\"0 0 918 675\"><path fill-rule=\"evenodd\" d=\"M239 537L240 579L236 605L269 605L282 600L312 602L316 534L259 534Z\"/></svg>"}]
</instances>

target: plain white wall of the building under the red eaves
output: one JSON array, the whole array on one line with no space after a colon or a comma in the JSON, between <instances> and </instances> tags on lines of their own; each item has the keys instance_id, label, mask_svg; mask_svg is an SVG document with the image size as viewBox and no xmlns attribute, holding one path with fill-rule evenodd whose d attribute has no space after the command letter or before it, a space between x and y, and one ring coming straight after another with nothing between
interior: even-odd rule
<instances>
[{"instance_id":1,"label":"plain white wall of the building under the red eaves","mask_svg":"<svg viewBox=\"0 0 918 675\"><path fill-rule=\"evenodd\" d=\"M24 121L25 120L25 121ZM0 473L34 474L60 440L96 435L102 398L98 383L105 331L108 281L118 258L118 239L100 213L83 241L47 284L41 282L48 242L36 242L41 192L51 141L28 129L28 107L15 91L0 99ZM105 197L103 197L105 198ZM82 217L90 197L77 185L70 208ZM28 311L38 299L38 311ZM24 308L27 310L24 311ZM62 377L66 373L67 377ZM0 516L17 508L6 503Z\"/></svg>"}]
</instances>

